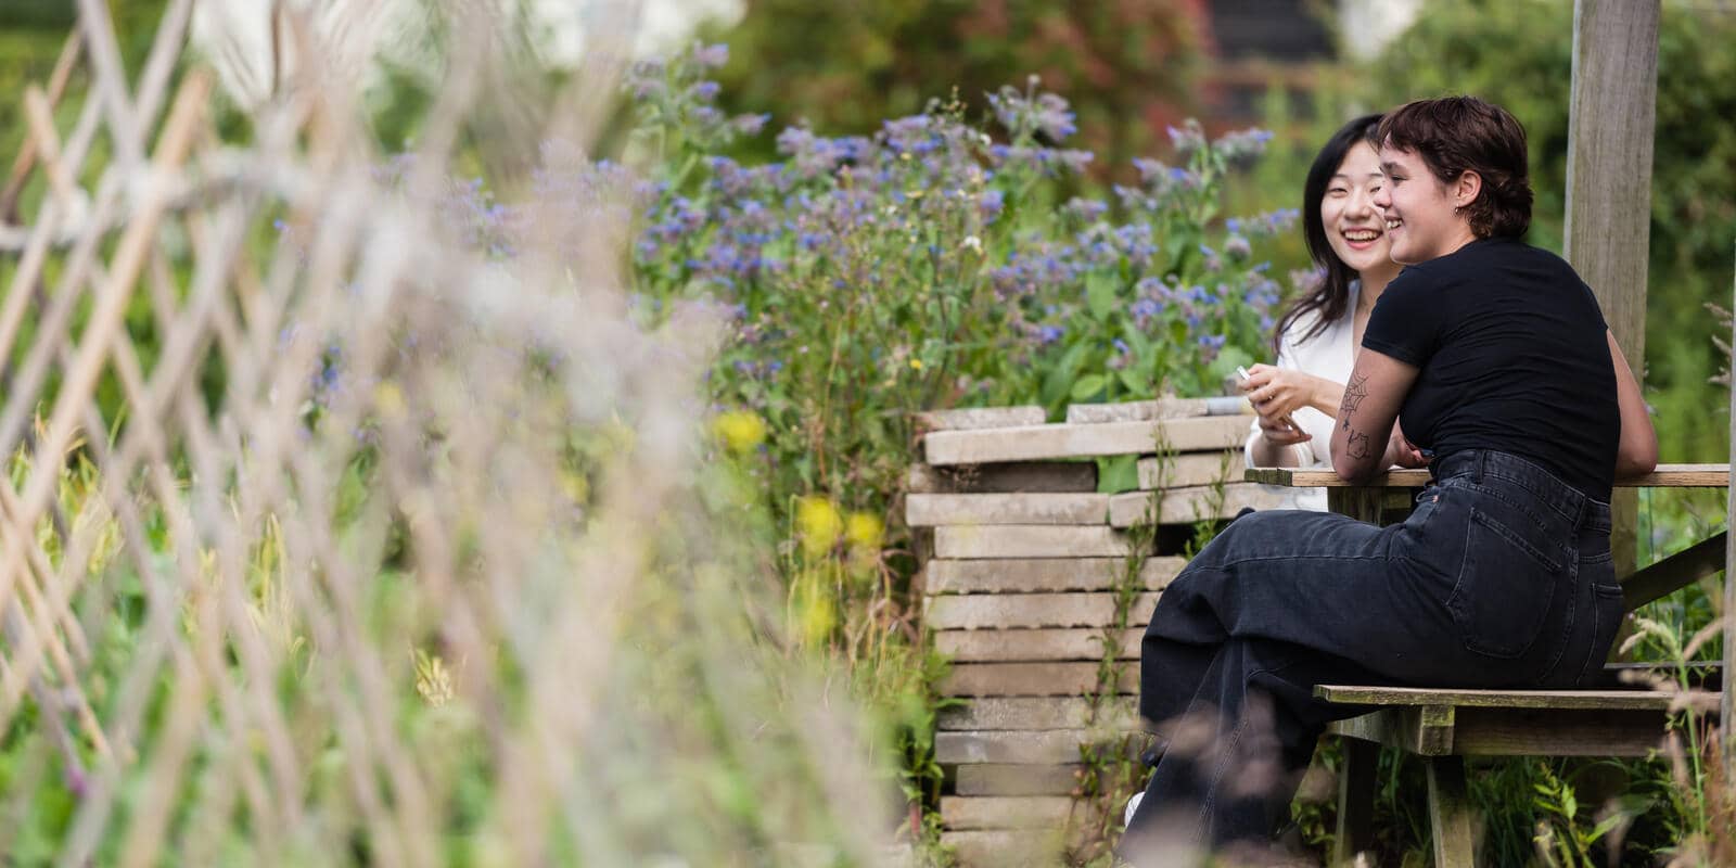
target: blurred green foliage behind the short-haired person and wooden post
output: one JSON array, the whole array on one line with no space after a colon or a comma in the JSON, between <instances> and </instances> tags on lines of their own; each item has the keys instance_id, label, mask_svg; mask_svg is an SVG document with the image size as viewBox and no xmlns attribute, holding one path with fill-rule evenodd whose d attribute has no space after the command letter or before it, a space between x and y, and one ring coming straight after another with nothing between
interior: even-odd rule
<instances>
[{"instance_id":1,"label":"blurred green foliage behind the short-haired person and wooden post","mask_svg":"<svg viewBox=\"0 0 1736 868\"><path fill-rule=\"evenodd\" d=\"M1724 460L1722 366L1705 304L1731 304L1736 259L1736 10L1667 0L1647 271L1647 398L1663 458ZM1573 73L1573 3L1437 0L1375 61L1368 104L1476 94L1512 111L1531 146L1531 243L1561 250ZM1635 203L1641 207L1641 203ZM1727 337L1727 335L1726 335Z\"/></svg>"}]
</instances>

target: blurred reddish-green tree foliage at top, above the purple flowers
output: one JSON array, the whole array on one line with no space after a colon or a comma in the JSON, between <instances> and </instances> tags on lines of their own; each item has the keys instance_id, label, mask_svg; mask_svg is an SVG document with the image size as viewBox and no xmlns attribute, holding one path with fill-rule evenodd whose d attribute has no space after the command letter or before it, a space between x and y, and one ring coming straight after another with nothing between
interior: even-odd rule
<instances>
[{"instance_id":1,"label":"blurred reddish-green tree foliage at top, above the purple flowers","mask_svg":"<svg viewBox=\"0 0 1736 868\"><path fill-rule=\"evenodd\" d=\"M1069 146L1095 151L1097 172L1132 175L1153 134L1194 106L1200 35L1186 0L748 0L717 75L726 111L776 111L861 134L920 113L932 97L983 109L986 92L1031 75L1078 113Z\"/></svg>"}]
</instances>

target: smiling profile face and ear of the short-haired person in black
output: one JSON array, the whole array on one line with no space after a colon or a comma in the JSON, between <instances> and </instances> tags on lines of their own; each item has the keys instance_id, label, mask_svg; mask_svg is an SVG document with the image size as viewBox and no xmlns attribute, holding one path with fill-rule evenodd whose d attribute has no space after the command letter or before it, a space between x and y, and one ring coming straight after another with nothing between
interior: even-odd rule
<instances>
[{"instance_id":1,"label":"smiling profile face and ear of the short-haired person in black","mask_svg":"<svg viewBox=\"0 0 1736 868\"><path fill-rule=\"evenodd\" d=\"M1474 174L1444 184L1422 155L1392 146L1380 148L1380 170L1385 184L1373 203L1385 217L1394 262L1427 262L1476 241L1470 222L1455 212L1477 198L1481 179Z\"/></svg>"}]
</instances>

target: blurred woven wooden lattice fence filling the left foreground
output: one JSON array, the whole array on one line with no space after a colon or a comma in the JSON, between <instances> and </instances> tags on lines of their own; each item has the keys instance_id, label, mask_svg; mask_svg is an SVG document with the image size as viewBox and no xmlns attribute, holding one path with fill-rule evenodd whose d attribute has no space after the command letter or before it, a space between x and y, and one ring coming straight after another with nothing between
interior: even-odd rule
<instances>
[{"instance_id":1,"label":"blurred woven wooden lattice fence filling the left foreground","mask_svg":"<svg viewBox=\"0 0 1736 868\"><path fill-rule=\"evenodd\" d=\"M0 198L0 851L878 861L705 507L712 321L628 316L625 184L550 149L507 260L441 205L481 66L411 158L312 78L236 144L191 0L137 80L80 9Z\"/></svg>"}]
</instances>

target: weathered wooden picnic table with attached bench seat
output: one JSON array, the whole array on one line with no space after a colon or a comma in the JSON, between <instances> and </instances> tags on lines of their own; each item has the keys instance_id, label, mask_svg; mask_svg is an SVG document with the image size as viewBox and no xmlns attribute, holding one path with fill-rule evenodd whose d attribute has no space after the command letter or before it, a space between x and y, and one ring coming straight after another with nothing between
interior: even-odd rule
<instances>
[{"instance_id":1,"label":"weathered wooden picnic table with attached bench seat","mask_svg":"<svg viewBox=\"0 0 1736 868\"><path fill-rule=\"evenodd\" d=\"M1427 470L1392 470L1351 486L1332 470L1257 467L1248 481L1326 488L1333 512L1387 524L1410 512ZM1623 488L1729 488L1729 465L1660 465L1618 483ZM1665 557L1621 582L1628 611L1724 569L1727 535L1719 533ZM1616 679L1611 679L1614 682ZM1373 844L1371 812L1380 746L1424 757L1434 865L1469 868L1476 859L1474 823L1465 802L1465 757L1644 757L1665 736L1680 696L1644 687L1592 691L1484 691L1321 684L1314 694L1335 703L1377 707L1333 724L1344 740L1338 778L1338 830L1333 865L1345 865ZM1717 713L1719 696L1701 694L1694 708Z\"/></svg>"}]
</instances>

